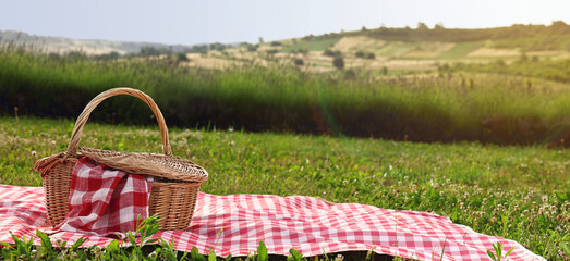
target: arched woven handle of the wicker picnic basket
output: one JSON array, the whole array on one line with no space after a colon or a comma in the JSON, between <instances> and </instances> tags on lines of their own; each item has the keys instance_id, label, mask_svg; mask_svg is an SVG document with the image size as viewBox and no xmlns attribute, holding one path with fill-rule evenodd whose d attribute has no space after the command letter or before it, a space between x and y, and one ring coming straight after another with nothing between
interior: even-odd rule
<instances>
[{"instance_id":1,"label":"arched woven handle of the wicker picnic basket","mask_svg":"<svg viewBox=\"0 0 570 261\"><path fill-rule=\"evenodd\" d=\"M73 127L73 133L71 134L70 145L68 147L66 153L77 153L77 147L80 145L81 136L83 135L83 126L85 126L85 123L87 122L87 119L89 119L92 111L105 99L118 95L129 95L136 97L143 100L148 107L150 107L150 110L153 110L153 113L155 113L155 117L158 121L158 126L160 127L160 136L162 138L162 152L165 152L165 154L167 156L171 156L172 149L170 148L170 141L168 140L168 127L165 122L165 117L160 112L160 109L158 109L158 105L155 103L153 98L147 96L145 92L125 87L108 89L93 98L92 101L89 101L89 103L85 107L85 109L83 109L83 112L77 117L77 121L75 121L75 126Z\"/></svg>"}]
</instances>

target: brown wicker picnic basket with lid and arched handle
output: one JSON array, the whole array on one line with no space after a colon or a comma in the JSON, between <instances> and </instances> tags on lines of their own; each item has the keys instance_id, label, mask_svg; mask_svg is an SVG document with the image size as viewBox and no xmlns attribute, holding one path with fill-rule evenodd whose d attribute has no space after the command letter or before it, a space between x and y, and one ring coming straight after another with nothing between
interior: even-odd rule
<instances>
[{"instance_id":1,"label":"brown wicker picnic basket with lid and arched handle","mask_svg":"<svg viewBox=\"0 0 570 261\"><path fill-rule=\"evenodd\" d=\"M160 127L165 154L124 153L89 148L80 148L77 151L83 126L90 112L102 100L117 95L140 98L150 107ZM199 187L202 182L208 178L208 174L202 166L172 156L165 119L149 96L131 88L114 88L101 92L77 117L68 150L36 162L34 170L41 173L48 220L52 226L59 225L69 212L68 201L73 166L77 159L84 156L128 173L155 176L148 204L149 214L161 216L159 220L161 231L183 231L190 226Z\"/></svg>"}]
</instances>

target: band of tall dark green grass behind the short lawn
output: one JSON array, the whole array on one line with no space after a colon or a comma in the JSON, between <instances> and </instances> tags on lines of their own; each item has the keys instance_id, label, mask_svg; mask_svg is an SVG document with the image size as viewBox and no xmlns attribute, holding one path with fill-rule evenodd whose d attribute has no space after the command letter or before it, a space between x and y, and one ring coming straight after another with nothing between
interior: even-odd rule
<instances>
[{"instance_id":1,"label":"band of tall dark green grass behind the short lawn","mask_svg":"<svg viewBox=\"0 0 570 261\"><path fill-rule=\"evenodd\" d=\"M558 63L563 74L567 62ZM73 119L97 94L129 86L154 97L173 126L504 145L565 137L566 82L483 66L385 77L366 70L308 73L288 60L208 70L172 57L94 60L3 46L0 114ZM153 121L144 104L125 97L101 104L94 119Z\"/></svg>"}]
</instances>

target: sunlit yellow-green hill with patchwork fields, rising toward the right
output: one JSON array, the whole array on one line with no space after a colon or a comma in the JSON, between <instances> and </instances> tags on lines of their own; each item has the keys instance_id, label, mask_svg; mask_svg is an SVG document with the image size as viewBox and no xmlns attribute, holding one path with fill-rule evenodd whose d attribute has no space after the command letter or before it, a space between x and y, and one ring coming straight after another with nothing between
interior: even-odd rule
<instances>
[{"instance_id":1,"label":"sunlit yellow-green hill with patchwork fields, rising toward the right","mask_svg":"<svg viewBox=\"0 0 570 261\"><path fill-rule=\"evenodd\" d=\"M193 54L192 54L193 55ZM313 72L335 71L333 59L344 69L385 74L432 71L446 62L509 63L523 55L550 60L570 57L570 26L563 22L513 25L486 29L375 28L305 36L270 42L243 44L223 51L194 57L191 66L227 67L247 62L295 63ZM220 62L219 60L226 60ZM246 62L246 63L244 63Z\"/></svg>"}]
</instances>

